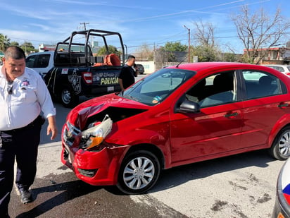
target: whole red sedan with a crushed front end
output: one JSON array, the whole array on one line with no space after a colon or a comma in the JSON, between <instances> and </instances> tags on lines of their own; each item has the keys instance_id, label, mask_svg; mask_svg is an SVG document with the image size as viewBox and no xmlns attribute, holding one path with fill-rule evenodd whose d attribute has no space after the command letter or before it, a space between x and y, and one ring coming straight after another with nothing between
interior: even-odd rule
<instances>
[{"instance_id":1,"label":"whole red sedan with a crushed front end","mask_svg":"<svg viewBox=\"0 0 290 218\"><path fill-rule=\"evenodd\" d=\"M290 78L265 66L162 68L68 114L62 162L82 181L144 193L161 169L269 149L290 155Z\"/></svg>"}]
</instances>

